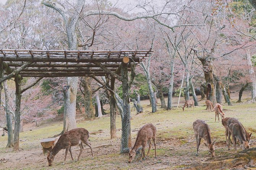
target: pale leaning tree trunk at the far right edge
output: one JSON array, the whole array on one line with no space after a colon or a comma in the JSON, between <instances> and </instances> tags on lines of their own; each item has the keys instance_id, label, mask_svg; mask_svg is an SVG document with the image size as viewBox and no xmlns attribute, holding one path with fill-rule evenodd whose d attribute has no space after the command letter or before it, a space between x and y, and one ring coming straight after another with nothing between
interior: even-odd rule
<instances>
[{"instance_id":1,"label":"pale leaning tree trunk at the far right edge","mask_svg":"<svg viewBox=\"0 0 256 170\"><path fill-rule=\"evenodd\" d=\"M249 75L251 79L251 99L256 100L256 77L254 73L254 69L251 63L251 54L250 51L246 51L246 60L247 60L247 65L249 66Z\"/></svg>"}]
</instances>

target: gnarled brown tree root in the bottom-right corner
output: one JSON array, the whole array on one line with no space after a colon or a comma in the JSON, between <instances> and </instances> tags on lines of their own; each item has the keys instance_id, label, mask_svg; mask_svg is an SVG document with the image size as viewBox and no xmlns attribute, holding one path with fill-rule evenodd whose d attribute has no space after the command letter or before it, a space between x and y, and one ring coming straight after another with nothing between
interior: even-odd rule
<instances>
[{"instance_id":1,"label":"gnarled brown tree root in the bottom-right corner","mask_svg":"<svg viewBox=\"0 0 256 170\"><path fill-rule=\"evenodd\" d=\"M191 164L183 169L198 170L198 169L218 169L218 168L233 168L237 165L248 164L253 167L256 163L256 148L246 149L231 156L211 157L202 164Z\"/></svg>"}]
</instances>

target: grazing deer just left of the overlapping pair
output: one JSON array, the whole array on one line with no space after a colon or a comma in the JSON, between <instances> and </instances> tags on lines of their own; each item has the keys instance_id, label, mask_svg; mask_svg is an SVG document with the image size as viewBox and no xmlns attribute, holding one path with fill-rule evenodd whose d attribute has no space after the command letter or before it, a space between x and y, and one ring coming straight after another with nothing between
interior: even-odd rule
<instances>
[{"instance_id":1,"label":"grazing deer just left of the overlapping pair","mask_svg":"<svg viewBox=\"0 0 256 170\"><path fill-rule=\"evenodd\" d=\"M204 120L196 120L193 123L194 135L196 136L196 156L198 156L198 149L200 146L201 138L203 138L207 143L204 143L208 149L209 153L212 157L215 156L214 154L214 142L211 139L211 131L209 125L207 125Z\"/></svg>"}]
</instances>

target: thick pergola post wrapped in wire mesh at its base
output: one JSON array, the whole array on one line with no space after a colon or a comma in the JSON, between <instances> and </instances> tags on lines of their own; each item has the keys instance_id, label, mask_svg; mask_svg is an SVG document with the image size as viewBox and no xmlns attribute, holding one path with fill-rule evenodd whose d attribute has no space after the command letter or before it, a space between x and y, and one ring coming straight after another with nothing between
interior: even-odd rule
<instances>
[{"instance_id":1,"label":"thick pergola post wrapped in wire mesh at its base","mask_svg":"<svg viewBox=\"0 0 256 170\"><path fill-rule=\"evenodd\" d=\"M129 103L129 84L128 84L128 69L127 64L122 63L122 90L123 90L123 118L122 118L122 141L121 152L129 152L131 147L131 123L130 123L130 103ZM150 82L151 83L151 82ZM151 86L152 88L152 86ZM152 89L153 90L153 89ZM154 99L154 92L152 94ZM155 100L152 100L155 101Z\"/></svg>"}]
</instances>

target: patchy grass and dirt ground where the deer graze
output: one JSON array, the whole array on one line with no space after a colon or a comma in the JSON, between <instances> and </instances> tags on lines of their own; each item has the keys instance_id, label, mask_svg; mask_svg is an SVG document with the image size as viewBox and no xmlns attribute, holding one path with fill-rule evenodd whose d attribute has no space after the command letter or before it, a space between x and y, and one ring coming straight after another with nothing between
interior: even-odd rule
<instances>
[{"instance_id":1,"label":"patchy grass and dirt ground where the deer graze","mask_svg":"<svg viewBox=\"0 0 256 170\"><path fill-rule=\"evenodd\" d=\"M253 133L251 147L256 146L256 103L250 101L250 91L243 94L243 102L235 103L238 100L238 92L231 94L233 106L227 106L224 103L223 108L227 117L236 117L243 123L249 133ZM198 96L198 99L201 99ZM158 99L160 103L160 99ZM20 133L20 151L14 152L12 149L6 149L7 136L0 137L0 169L107 169L107 170L126 170L126 169L182 169L191 163L201 163L210 157L207 147L203 140L199 147L199 156L195 155L196 140L194 137L192 123L196 119L205 120L210 128L213 140L217 140L215 146L215 155L231 155L234 153L233 147L227 150L225 143L225 129L221 122L214 122L215 113L205 110L205 101L200 101L200 106L193 109L177 108L177 98L174 99L174 107L171 111L160 109L151 113L151 107L148 100L142 101L144 112L136 115L132 110L131 115L131 135L132 141L136 140L136 133L145 123L153 123L157 127L157 158L154 158L154 150L151 150L146 160L134 160L128 163L128 155L120 154L120 136L121 136L121 118L117 115L117 138L110 139L110 118L105 115L101 118L84 120L82 114L78 114L78 127L86 128L90 135L94 151L94 159L91 158L91 152L88 147L83 151L79 161L71 161L68 154L65 165L62 162L65 157L65 151L61 150L55 157L53 165L48 167L46 155L42 154L40 141L43 138L52 137L61 132L63 128L62 117L53 120L46 120L39 123L38 127L28 123L25 125L25 132ZM167 99L166 99L167 101ZM181 99L181 105L184 104ZM132 106L132 105L131 105ZM93 133L102 131L101 133ZM107 146L99 147L102 144ZM96 147L96 148L95 148ZM146 146L147 149L148 146ZM153 147L154 148L154 147ZM238 146L241 151L241 146ZM72 147L73 157L76 160L79 154L79 147ZM147 150L146 150L147 151ZM145 152L146 152L145 151ZM243 168L239 165L237 168Z\"/></svg>"}]
</instances>

